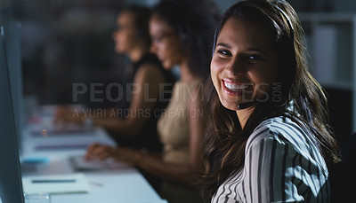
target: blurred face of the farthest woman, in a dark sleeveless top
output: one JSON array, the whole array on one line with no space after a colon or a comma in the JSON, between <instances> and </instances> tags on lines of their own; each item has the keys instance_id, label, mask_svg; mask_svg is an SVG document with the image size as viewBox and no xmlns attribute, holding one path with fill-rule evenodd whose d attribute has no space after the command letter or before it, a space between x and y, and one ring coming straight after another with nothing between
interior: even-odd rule
<instances>
[{"instance_id":1,"label":"blurred face of the farthest woman, in a dark sleeveless top","mask_svg":"<svg viewBox=\"0 0 356 203\"><path fill-rule=\"evenodd\" d=\"M138 41L133 12L121 12L117 16L117 29L112 33L117 53L128 53Z\"/></svg>"}]
</instances>

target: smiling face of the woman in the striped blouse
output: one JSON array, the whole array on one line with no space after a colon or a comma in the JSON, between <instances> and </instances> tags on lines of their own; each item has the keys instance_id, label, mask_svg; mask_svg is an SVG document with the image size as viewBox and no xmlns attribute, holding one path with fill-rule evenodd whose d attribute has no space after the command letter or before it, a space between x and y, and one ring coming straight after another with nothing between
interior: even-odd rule
<instances>
[{"instance_id":1,"label":"smiling face of the woman in the striped blouse","mask_svg":"<svg viewBox=\"0 0 356 203\"><path fill-rule=\"evenodd\" d=\"M231 18L217 38L211 76L223 106L263 101L269 97L278 70L271 35L261 25ZM277 85L277 84L276 84Z\"/></svg>"}]
</instances>

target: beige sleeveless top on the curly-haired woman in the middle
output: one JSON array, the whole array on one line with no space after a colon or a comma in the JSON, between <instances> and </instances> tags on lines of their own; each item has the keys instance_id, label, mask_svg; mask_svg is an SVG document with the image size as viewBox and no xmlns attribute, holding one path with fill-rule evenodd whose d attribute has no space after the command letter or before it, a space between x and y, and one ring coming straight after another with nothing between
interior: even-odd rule
<instances>
[{"instance_id":1,"label":"beige sleeveless top on the curly-haired woman in the middle","mask_svg":"<svg viewBox=\"0 0 356 203\"><path fill-rule=\"evenodd\" d=\"M195 82L175 82L173 94L169 105L158 120L158 135L163 149L163 160L173 163L189 162L190 124L189 117L192 113L188 105L193 91L200 84Z\"/></svg>"}]
</instances>

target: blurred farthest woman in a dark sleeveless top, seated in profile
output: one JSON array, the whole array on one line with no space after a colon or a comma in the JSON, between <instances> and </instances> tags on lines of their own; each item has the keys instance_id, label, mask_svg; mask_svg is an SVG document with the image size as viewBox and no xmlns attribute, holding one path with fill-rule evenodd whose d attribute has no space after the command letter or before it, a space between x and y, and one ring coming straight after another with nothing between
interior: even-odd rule
<instances>
[{"instance_id":1,"label":"blurred farthest woman in a dark sleeveless top, seated in profile","mask_svg":"<svg viewBox=\"0 0 356 203\"><path fill-rule=\"evenodd\" d=\"M150 9L137 5L125 8L117 16L117 28L112 34L115 50L130 59L124 91L118 92L122 99L117 108L105 109L104 113L93 110L89 114L61 107L57 110L56 122L89 122L107 129L121 146L150 152L162 150L156 126L162 109L169 102L174 77L150 53L149 19Z\"/></svg>"}]
</instances>

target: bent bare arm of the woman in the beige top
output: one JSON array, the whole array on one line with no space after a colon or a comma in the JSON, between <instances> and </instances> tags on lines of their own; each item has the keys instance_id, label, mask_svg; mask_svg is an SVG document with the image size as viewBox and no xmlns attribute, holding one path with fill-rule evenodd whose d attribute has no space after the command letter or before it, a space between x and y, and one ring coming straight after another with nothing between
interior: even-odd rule
<instances>
[{"instance_id":1,"label":"bent bare arm of the woman in the beige top","mask_svg":"<svg viewBox=\"0 0 356 203\"><path fill-rule=\"evenodd\" d=\"M193 92L188 111L201 111L198 91ZM190 114L192 115L192 113ZM194 114L193 114L194 115ZM201 137L203 135L204 123L200 116L190 116L190 161L186 164L167 163L161 156L152 153L143 153L131 148L110 147L101 144L93 144L87 150L86 160L104 160L113 158L118 161L131 163L142 168L160 179L175 183L191 184L195 181L195 175L200 165Z\"/></svg>"}]
</instances>

